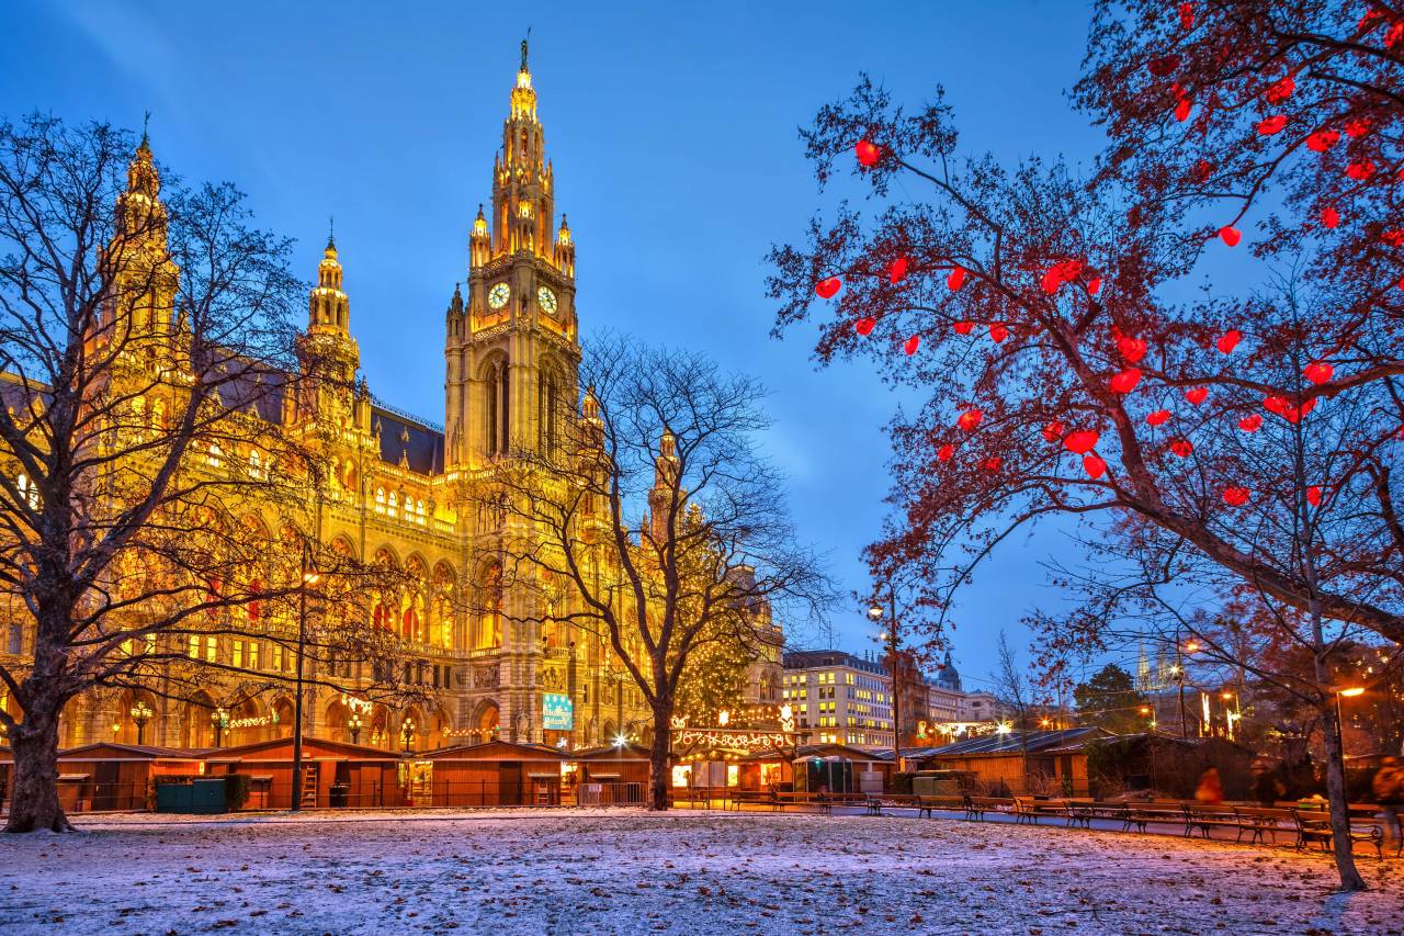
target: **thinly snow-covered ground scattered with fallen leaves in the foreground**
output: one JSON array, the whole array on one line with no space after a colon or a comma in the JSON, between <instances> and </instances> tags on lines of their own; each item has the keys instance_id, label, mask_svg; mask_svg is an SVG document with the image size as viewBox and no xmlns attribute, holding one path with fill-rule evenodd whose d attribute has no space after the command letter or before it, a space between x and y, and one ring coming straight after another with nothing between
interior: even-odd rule
<instances>
[{"instance_id":1,"label":"thinly snow-covered ground scattered with fallen leaves in the foreground","mask_svg":"<svg viewBox=\"0 0 1404 936\"><path fill-rule=\"evenodd\" d=\"M0 932L1404 933L1404 860L910 817L80 819L0 839Z\"/></svg>"}]
</instances>

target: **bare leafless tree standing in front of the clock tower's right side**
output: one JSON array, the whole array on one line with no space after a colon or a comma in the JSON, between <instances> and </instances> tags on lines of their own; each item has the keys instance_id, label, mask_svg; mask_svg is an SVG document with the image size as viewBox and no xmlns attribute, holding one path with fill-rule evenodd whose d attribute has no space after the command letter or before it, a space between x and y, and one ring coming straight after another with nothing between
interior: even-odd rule
<instances>
[{"instance_id":1,"label":"bare leafless tree standing in front of the clock tower's right side","mask_svg":"<svg viewBox=\"0 0 1404 936\"><path fill-rule=\"evenodd\" d=\"M757 655L771 616L831 600L796 544L783 479L757 451L761 385L699 354L626 339L587 347L578 420L498 462L483 488L505 513L505 575L562 600L528 621L604 635L653 718L649 805L667 808L671 720L708 648ZM564 587L560 587L564 583Z\"/></svg>"}]
</instances>

